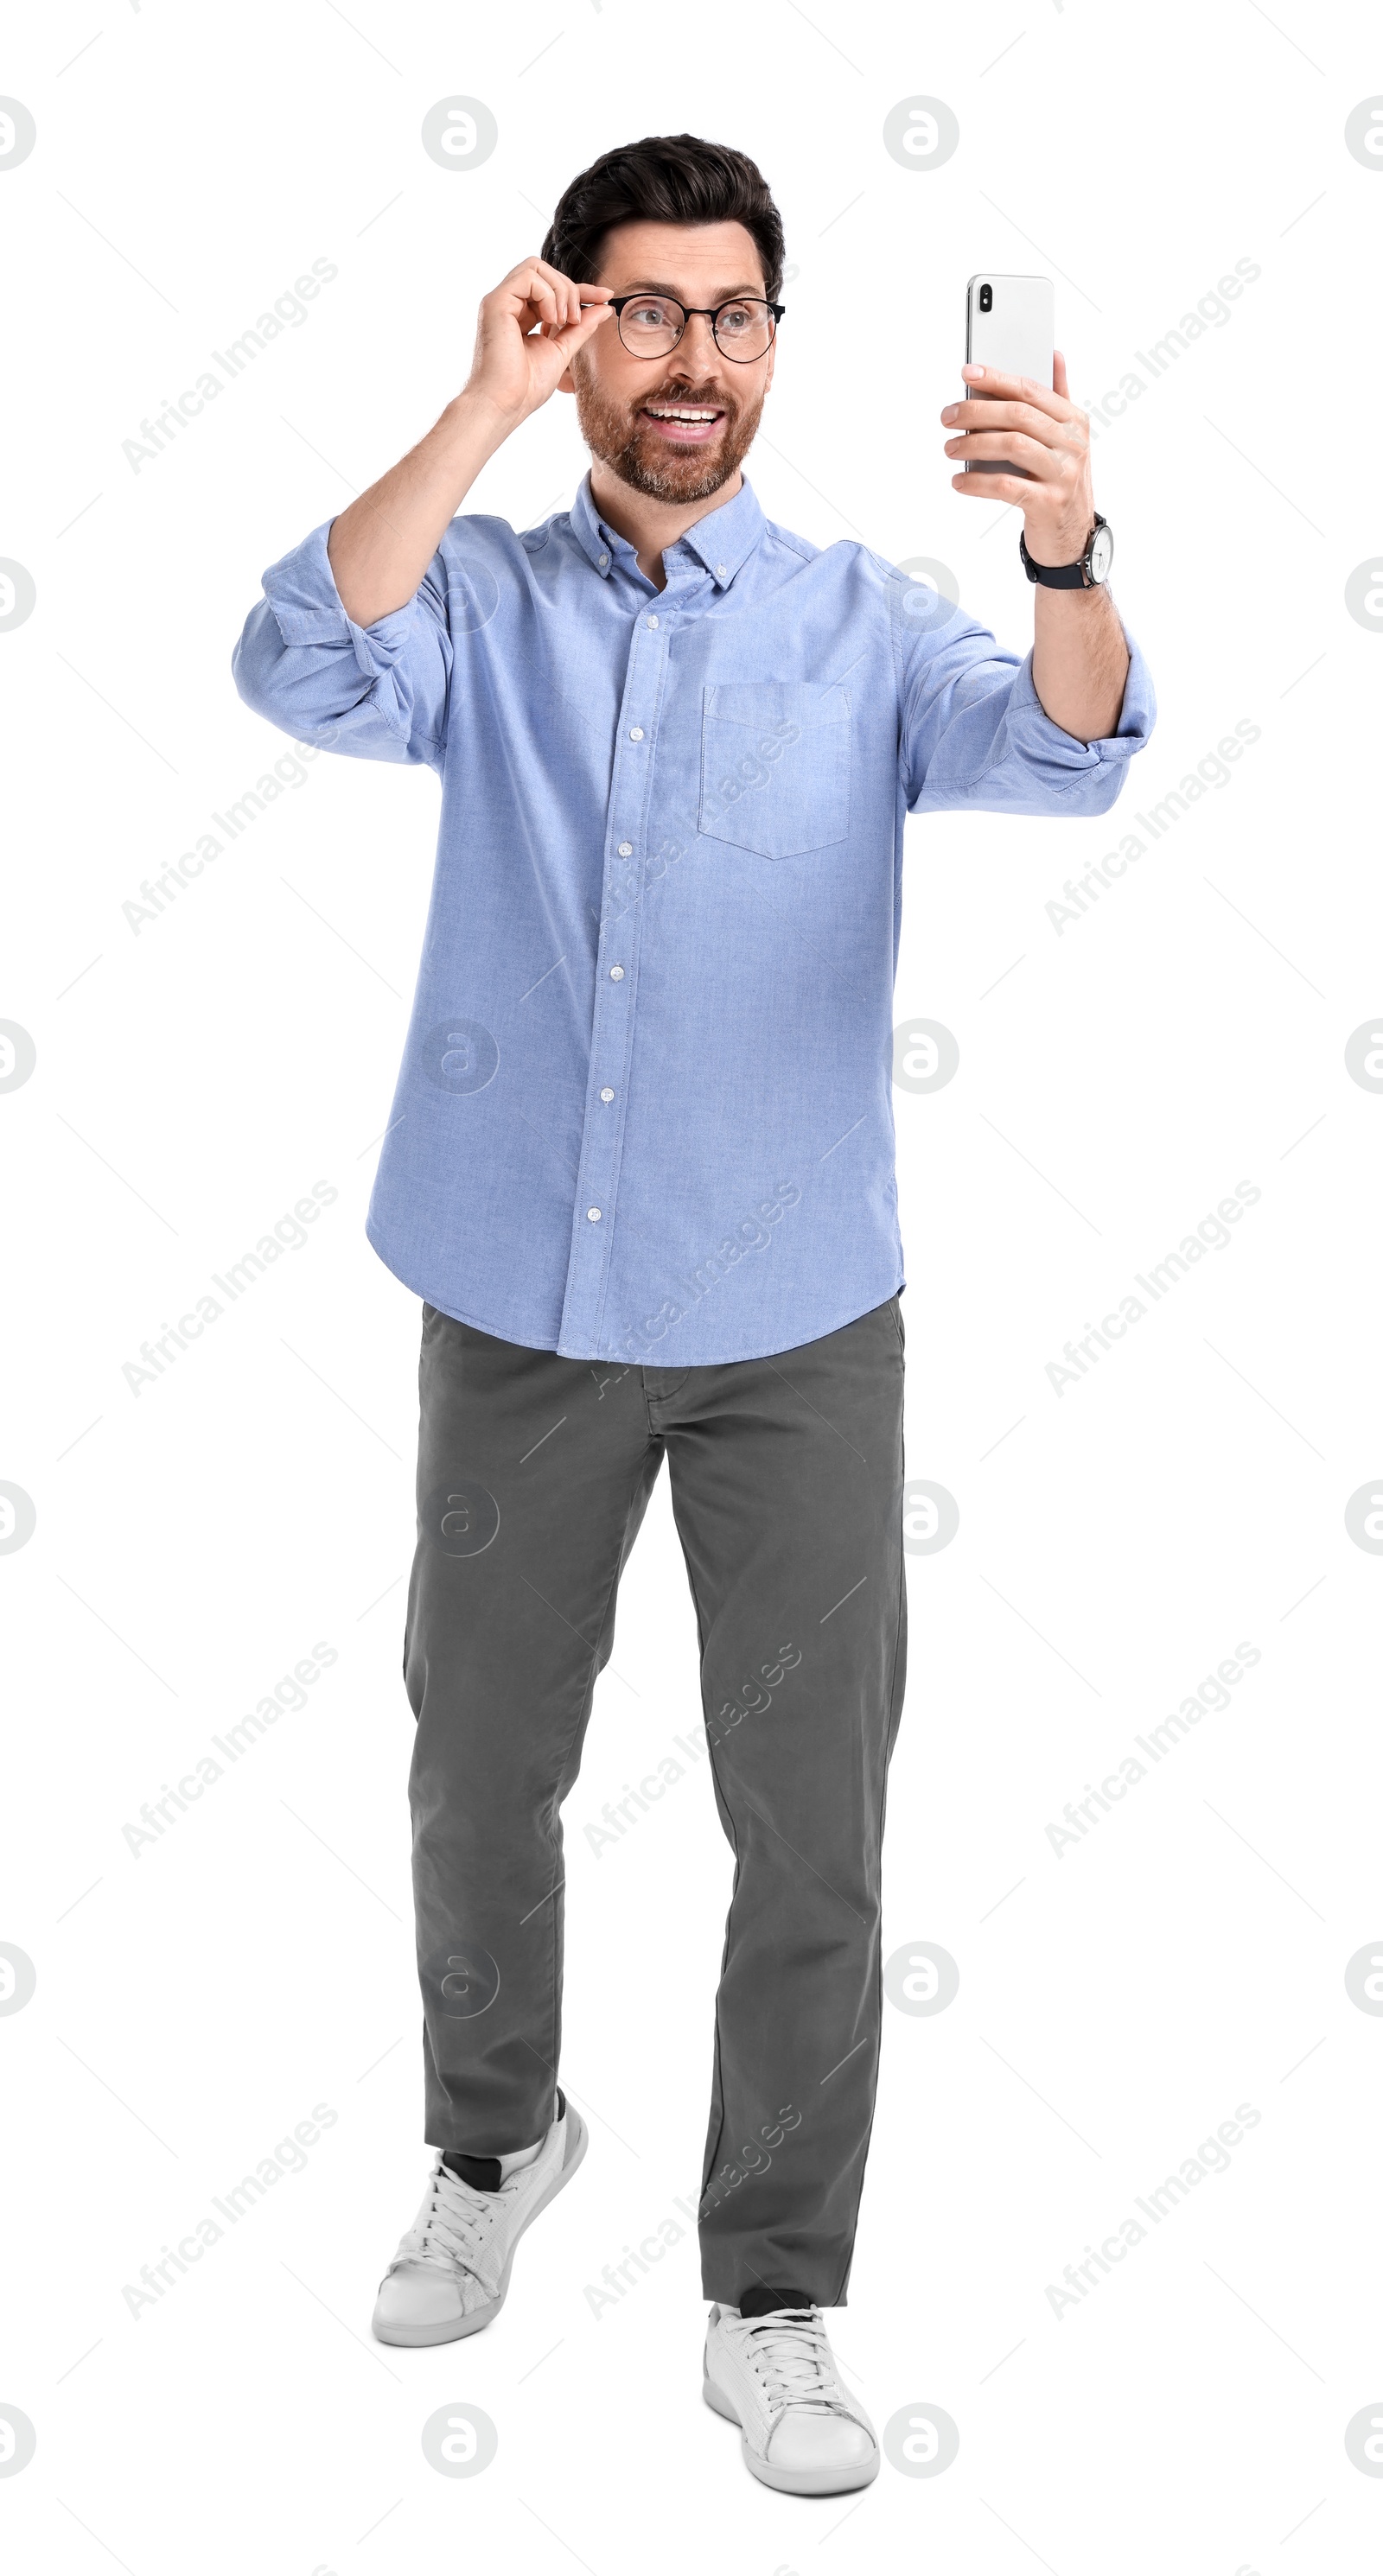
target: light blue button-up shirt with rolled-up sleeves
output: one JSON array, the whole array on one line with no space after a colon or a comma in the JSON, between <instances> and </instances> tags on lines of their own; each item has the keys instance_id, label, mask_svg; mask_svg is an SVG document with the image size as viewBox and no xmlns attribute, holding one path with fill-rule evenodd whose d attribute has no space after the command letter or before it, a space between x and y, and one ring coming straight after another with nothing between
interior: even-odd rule
<instances>
[{"instance_id":1,"label":"light blue button-up shirt with rolled-up sleeves","mask_svg":"<svg viewBox=\"0 0 1383 2576\"><path fill-rule=\"evenodd\" d=\"M1154 724L1138 647L1118 734L1077 742L1030 657L747 484L664 590L590 479L523 533L453 518L373 626L327 531L265 572L234 680L301 742L440 775L381 1260L507 1342L659 1368L883 1303L904 814L1105 814Z\"/></svg>"}]
</instances>

